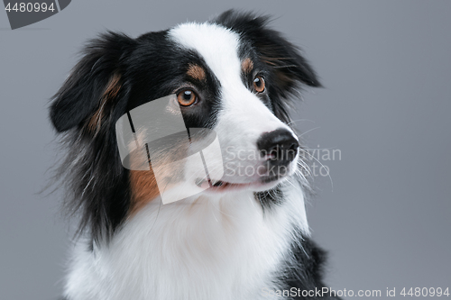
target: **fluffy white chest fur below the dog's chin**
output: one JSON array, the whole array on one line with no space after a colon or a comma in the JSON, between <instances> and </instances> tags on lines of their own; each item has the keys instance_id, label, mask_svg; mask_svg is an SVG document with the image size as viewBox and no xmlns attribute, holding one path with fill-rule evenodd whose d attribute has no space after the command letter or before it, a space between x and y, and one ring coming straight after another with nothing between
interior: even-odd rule
<instances>
[{"instance_id":1,"label":"fluffy white chest fur below the dog's chin","mask_svg":"<svg viewBox=\"0 0 451 300\"><path fill-rule=\"evenodd\" d=\"M108 246L78 243L65 292L69 300L263 299L262 288L277 287L294 226L308 233L302 192L292 186L264 214L251 192L157 199Z\"/></svg>"}]
</instances>

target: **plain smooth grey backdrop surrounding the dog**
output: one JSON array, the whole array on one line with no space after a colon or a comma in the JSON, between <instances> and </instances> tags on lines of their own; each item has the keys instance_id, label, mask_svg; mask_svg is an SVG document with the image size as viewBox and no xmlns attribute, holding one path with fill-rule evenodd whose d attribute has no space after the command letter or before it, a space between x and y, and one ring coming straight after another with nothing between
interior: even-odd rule
<instances>
[{"instance_id":1,"label":"plain smooth grey backdrop surrounding the dog","mask_svg":"<svg viewBox=\"0 0 451 300\"><path fill-rule=\"evenodd\" d=\"M451 287L451 2L87 1L21 30L0 12L0 299L54 299L69 250L60 195L36 194L55 163L48 99L88 38L205 21L228 8L276 18L323 89L294 119L322 161L308 205L336 289ZM314 128L317 128L313 130ZM399 290L398 290L399 291ZM382 297L385 298L385 297Z\"/></svg>"}]
</instances>

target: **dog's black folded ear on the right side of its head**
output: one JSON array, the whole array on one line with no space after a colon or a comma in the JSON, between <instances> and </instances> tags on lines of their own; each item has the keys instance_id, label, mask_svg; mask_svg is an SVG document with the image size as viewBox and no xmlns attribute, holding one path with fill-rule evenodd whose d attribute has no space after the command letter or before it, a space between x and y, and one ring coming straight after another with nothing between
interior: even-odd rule
<instances>
[{"instance_id":1,"label":"dog's black folded ear on the right side of its head","mask_svg":"<svg viewBox=\"0 0 451 300\"><path fill-rule=\"evenodd\" d=\"M280 32L267 27L269 17L236 13L234 10L219 15L215 22L239 32L244 41L250 41L262 62L272 68L272 80L281 96L298 86L321 86L318 77L299 53L300 50L281 36Z\"/></svg>"}]
</instances>

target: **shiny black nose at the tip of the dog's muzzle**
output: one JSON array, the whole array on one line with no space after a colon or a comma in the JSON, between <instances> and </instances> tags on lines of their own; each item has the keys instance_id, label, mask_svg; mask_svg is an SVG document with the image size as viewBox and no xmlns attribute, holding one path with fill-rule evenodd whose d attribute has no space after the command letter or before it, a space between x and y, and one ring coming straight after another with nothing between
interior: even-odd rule
<instances>
[{"instance_id":1,"label":"shiny black nose at the tip of the dog's muzzle","mask_svg":"<svg viewBox=\"0 0 451 300\"><path fill-rule=\"evenodd\" d=\"M291 132L278 129L263 133L257 141L262 157L268 157L274 165L288 165L298 154L299 142Z\"/></svg>"}]
</instances>

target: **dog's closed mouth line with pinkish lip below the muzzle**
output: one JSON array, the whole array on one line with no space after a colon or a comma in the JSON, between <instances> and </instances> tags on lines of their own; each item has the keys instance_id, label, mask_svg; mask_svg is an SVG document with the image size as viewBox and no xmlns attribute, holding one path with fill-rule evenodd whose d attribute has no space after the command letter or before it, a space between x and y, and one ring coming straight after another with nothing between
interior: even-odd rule
<instances>
[{"instance_id":1,"label":"dog's closed mouth line with pinkish lip below the muzzle","mask_svg":"<svg viewBox=\"0 0 451 300\"><path fill-rule=\"evenodd\" d=\"M223 180L213 180L207 178L198 178L196 185L203 189L207 189L208 192L225 192L242 189L262 189L265 186L272 186L281 179L279 176L262 177L258 181L250 183L231 183Z\"/></svg>"}]
</instances>

